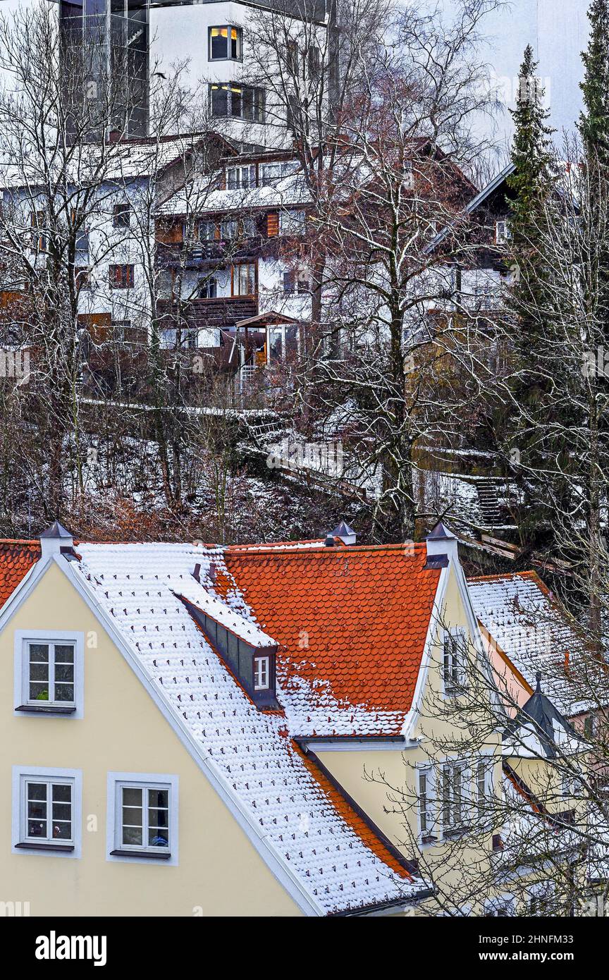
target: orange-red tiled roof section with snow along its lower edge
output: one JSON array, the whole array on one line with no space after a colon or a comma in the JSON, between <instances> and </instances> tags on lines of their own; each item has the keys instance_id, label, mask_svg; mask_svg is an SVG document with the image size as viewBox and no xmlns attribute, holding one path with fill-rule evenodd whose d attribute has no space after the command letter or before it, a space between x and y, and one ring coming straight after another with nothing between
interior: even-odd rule
<instances>
[{"instance_id":1,"label":"orange-red tiled roof section with snow along its lower edge","mask_svg":"<svg viewBox=\"0 0 609 980\"><path fill-rule=\"evenodd\" d=\"M279 644L280 699L291 731L398 734L440 578L439 570L424 569L425 545L229 547L224 559Z\"/></svg>"}]
</instances>

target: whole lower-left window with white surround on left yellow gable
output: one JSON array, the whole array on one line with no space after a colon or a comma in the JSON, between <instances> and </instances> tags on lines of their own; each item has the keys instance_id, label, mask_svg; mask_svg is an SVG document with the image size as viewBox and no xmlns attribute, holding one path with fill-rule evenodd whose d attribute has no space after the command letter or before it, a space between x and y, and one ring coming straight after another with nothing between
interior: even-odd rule
<instances>
[{"instance_id":1,"label":"whole lower-left window with white surround on left yellow gable","mask_svg":"<svg viewBox=\"0 0 609 980\"><path fill-rule=\"evenodd\" d=\"M82 774L13 766L13 852L79 858Z\"/></svg>"}]
</instances>

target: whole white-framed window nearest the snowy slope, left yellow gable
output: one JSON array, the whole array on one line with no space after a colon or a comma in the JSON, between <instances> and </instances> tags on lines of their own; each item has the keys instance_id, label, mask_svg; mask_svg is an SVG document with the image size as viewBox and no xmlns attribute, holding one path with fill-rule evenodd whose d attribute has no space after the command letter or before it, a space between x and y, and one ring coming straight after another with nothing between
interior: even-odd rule
<instances>
[{"instance_id":1,"label":"whole white-framed window nearest the snowy slope, left yellow gable","mask_svg":"<svg viewBox=\"0 0 609 980\"><path fill-rule=\"evenodd\" d=\"M177 776L108 774L108 858L177 863Z\"/></svg>"}]
</instances>

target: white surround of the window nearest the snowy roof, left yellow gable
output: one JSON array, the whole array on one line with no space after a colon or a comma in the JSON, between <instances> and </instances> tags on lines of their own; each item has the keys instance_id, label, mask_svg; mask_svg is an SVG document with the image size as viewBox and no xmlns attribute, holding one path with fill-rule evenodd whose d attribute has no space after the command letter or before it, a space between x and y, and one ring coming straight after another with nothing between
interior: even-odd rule
<instances>
[{"instance_id":1,"label":"white surround of the window nearest the snowy roof, left yellow gable","mask_svg":"<svg viewBox=\"0 0 609 980\"><path fill-rule=\"evenodd\" d=\"M138 789L168 790L169 857L164 848L127 847L121 844L121 789L123 786ZM118 852L118 853L113 853ZM122 853L120 853L122 852ZM160 772L109 772L108 817L106 859L135 864L178 863L178 777Z\"/></svg>"}]
</instances>

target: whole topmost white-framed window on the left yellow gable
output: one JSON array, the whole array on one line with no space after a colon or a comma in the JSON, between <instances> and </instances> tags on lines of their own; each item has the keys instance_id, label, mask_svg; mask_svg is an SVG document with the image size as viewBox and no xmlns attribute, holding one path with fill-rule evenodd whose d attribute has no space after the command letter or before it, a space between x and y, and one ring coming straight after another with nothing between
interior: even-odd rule
<instances>
[{"instance_id":1,"label":"whole topmost white-framed window on the left yellow gable","mask_svg":"<svg viewBox=\"0 0 609 980\"><path fill-rule=\"evenodd\" d=\"M83 639L74 632L16 631L16 711L82 717Z\"/></svg>"}]
</instances>

